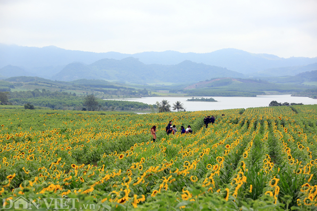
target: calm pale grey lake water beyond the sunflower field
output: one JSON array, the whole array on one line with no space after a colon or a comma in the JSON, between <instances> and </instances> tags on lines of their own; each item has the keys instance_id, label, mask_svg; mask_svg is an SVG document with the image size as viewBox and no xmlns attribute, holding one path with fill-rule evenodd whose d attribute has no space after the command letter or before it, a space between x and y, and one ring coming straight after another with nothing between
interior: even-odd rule
<instances>
[{"instance_id":1,"label":"calm pale grey lake water beyond the sunflower field","mask_svg":"<svg viewBox=\"0 0 317 211\"><path fill-rule=\"evenodd\" d=\"M269 96L256 96L256 97L234 97L234 96L204 96L204 98L213 97L218 102L199 102L199 101L186 101L191 97L142 97L142 98L128 98L119 99L127 101L142 102L146 104L155 104L156 101L160 102L166 99L171 106L176 101L184 104L186 111L208 111L208 110L223 110L223 109L236 109L236 108L254 108L269 106L270 102L276 100L277 102L288 103L303 103L317 104L317 99L302 96L291 95L269 95ZM196 98L196 97L195 97Z\"/></svg>"}]
</instances>

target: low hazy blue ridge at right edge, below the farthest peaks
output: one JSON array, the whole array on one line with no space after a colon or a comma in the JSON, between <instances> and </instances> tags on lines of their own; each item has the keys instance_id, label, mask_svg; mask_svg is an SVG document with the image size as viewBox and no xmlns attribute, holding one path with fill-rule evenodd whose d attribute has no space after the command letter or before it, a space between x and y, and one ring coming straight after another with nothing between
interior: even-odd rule
<instances>
[{"instance_id":1,"label":"low hazy blue ridge at right edge, below the farthest peaks","mask_svg":"<svg viewBox=\"0 0 317 211\"><path fill-rule=\"evenodd\" d=\"M272 68L268 70L259 71L254 74L255 77L281 77L281 76L295 76L299 73L317 70L317 63L304 65L304 66L293 66L293 67L280 67Z\"/></svg>"}]
</instances>

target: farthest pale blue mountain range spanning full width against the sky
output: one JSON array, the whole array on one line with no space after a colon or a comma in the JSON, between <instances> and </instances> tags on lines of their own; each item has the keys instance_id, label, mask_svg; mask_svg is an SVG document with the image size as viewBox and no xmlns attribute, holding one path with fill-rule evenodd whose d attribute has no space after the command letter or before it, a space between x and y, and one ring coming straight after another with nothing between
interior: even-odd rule
<instances>
[{"instance_id":1,"label":"farthest pale blue mountain range spanning full width against the sky","mask_svg":"<svg viewBox=\"0 0 317 211\"><path fill-rule=\"evenodd\" d=\"M52 77L66 65L74 62L92 64L104 58L121 60L129 57L139 58L139 62L144 65L178 65L185 60L190 60L258 77L277 76L277 72L280 73L278 76L295 76L298 74L297 70L301 68L300 66L308 65L302 72L311 71L316 70L316 67L309 65L317 63L317 58L279 58L274 55L253 54L232 48L203 54L179 53L176 51L121 54L117 52L72 51L55 46L38 48L0 44L0 68L7 65L18 66L32 76L39 77ZM296 68L297 70L294 70ZM84 69L79 71L84 71ZM194 71L192 70L192 72Z\"/></svg>"}]
</instances>

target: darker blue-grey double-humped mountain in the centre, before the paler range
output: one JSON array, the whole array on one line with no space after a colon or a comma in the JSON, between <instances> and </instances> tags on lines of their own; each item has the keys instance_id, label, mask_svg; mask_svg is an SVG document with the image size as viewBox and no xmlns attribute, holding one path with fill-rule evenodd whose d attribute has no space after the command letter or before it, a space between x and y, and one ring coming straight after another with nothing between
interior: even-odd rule
<instances>
[{"instance_id":1,"label":"darker blue-grey double-humped mountain in the centre, before the paler range","mask_svg":"<svg viewBox=\"0 0 317 211\"><path fill-rule=\"evenodd\" d=\"M177 65L144 64L137 58L100 59L90 65L71 63L52 79L72 81L80 78L127 81L131 83L188 83L211 77L244 77L225 68L198 64L189 60Z\"/></svg>"}]
</instances>

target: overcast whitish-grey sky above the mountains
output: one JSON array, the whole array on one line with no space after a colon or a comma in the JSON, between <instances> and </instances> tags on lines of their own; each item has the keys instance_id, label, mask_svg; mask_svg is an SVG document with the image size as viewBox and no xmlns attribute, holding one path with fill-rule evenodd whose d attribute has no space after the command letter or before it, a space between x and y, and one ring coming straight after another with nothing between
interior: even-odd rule
<instances>
[{"instance_id":1,"label":"overcast whitish-grey sky above the mountains","mask_svg":"<svg viewBox=\"0 0 317 211\"><path fill-rule=\"evenodd\" d=\"M0 0L0 43L317 57L317 0Z\"/></svg>"}]
</instances>

